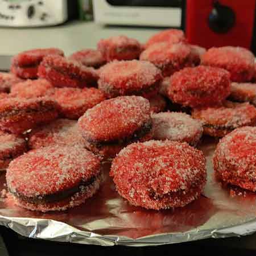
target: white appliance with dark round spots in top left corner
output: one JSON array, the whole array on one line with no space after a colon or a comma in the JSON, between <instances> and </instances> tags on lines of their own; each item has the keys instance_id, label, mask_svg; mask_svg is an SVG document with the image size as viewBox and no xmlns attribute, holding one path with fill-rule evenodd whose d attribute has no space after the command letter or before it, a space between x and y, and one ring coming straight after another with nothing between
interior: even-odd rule
<instances>
[{"instance_id":1,"label":"white appliance with dark round spots in top left corner","mask_svg":"<svg viewBox=\"0 0 256 256\"><path fill-rule=\"evenodd\" d=\"M0 0L0 26L52 26L67 19L67 0Z\"/></svg>"}]
</instances>

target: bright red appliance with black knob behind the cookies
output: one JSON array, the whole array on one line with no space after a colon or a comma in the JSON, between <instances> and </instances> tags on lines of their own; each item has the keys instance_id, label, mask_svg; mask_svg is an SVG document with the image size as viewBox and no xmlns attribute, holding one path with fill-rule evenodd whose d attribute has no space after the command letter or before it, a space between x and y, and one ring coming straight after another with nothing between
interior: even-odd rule
<instances>
[{"instance_id":1,"label":"bright red appliance with black knob behind the cookies","mask_svg":"<svg viewBox=\"0 0 256 256\"><path fill-rule=\"evenodd\" d=\"M251 47L255 0L187 0L188 42L213 46Z\"/></svg>"}]
</instances>

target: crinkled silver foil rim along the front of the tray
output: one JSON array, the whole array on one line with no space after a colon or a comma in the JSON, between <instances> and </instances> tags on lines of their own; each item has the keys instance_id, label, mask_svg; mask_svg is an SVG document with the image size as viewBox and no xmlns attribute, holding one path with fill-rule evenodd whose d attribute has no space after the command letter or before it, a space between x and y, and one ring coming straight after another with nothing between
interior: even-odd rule
<instances>
[{"instance_id":1,"label":"crinkled silver foil rim along the front of the tray","mask_svg":"<svg viewBox=\"0 0 256 256\"><path fill-rule=\"evenodd\" d=\"M202 240L205 238L240 237L256 232L256 218L245 224L222 229L193 229L184 233L163 233L137 239L122 236L101 236L74 228L64 222L38 218L5 217L0 215L0 225L14 230L21 236L56 242L86 245L156 246Z\"/></svg>"}]
</instances>

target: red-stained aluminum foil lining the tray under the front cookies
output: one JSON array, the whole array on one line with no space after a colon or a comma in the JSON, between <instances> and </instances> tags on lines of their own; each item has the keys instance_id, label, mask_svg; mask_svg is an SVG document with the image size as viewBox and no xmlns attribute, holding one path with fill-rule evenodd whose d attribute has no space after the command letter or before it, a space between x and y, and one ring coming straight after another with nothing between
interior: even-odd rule
<instances>
[{"instance_id":1,"label":"red-stained aluminum foil lining the tray under the front cookies","mask_svg":"<svg viewBox=\"0 0 256 256\"><path fill-rule=\"evenodd\" d=\"M200 198L186 207L146 210L133 207L115 191L105 164L100 191L80 207L65 212L25 210L0 201L0 224L22 236L92 245L152 246L204 238L244 236L256 231L256 195L222 187L215 180L212 154L217 141L205 138L199 148L207 157L208 181ZM5 174L0 176L5 187ZM234 190L234 188L233 188Z\"/></svg>"}]
</instances>

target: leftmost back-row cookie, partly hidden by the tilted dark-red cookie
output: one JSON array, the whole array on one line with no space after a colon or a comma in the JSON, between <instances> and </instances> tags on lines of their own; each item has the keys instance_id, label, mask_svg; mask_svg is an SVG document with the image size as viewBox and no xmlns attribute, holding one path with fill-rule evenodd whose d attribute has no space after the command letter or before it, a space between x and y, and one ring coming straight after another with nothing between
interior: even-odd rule
<instances>
[{"instance_id":1,"label":"leftmost back-row cookie, partly hidden by the tilted dark-red cookie","mask_svg":"<svg viewBox=\"0 0 256 256\"><path fill-rule=\"evenodd\" d=\"M57 48L31 49L15 55L11 62L11 72L23 79L38 77L38 66L47 55L64 56L64 52Z\"/></svg>"}]
</instances>

